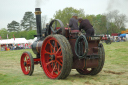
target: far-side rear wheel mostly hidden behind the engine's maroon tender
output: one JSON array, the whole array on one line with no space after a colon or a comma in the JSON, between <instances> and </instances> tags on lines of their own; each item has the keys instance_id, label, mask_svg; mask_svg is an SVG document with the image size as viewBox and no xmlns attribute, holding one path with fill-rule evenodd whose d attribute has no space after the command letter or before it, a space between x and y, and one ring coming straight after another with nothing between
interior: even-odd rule
<instances>
[{"instance_id":1,"label":"far-side rear wheel mostly hidden behind the engine's maroon tender","mask_svg":"<svg viewBox=\"0 0 128 85\"><path fill-rule=\"evenodd\" d=\"M86 69L76 69L76 70L82 75L96 75L96 74L98 74L102 70L102 68L104 66L104 61L105 61L104 47L101 43L99 44L98 54L99 54L99 57L100 57L98 67L90 68L89 70L88 70L88 68L86 68Z\"/></svg>"}]
</instances>

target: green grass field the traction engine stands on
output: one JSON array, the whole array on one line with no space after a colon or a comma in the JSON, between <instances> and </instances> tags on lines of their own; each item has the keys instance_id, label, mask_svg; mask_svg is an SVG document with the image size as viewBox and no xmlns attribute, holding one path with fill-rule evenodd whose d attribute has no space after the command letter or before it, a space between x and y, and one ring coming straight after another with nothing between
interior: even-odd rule
<instances>
[{"instance_id":1,"label":"green grass field the traction engine stands on","mask_svg":"<svg viewBox=\"0 0 128 85\"><path fill-rule=\"evenodd\" d=\"M40 65L35 65L32 76L22 73L20 57L31 49L0 51L0 85L128 85L128 42L104 44L105 65L95 76L80 75L72 69L64 80L46 77Z\"/></svg>"}]
</instances>

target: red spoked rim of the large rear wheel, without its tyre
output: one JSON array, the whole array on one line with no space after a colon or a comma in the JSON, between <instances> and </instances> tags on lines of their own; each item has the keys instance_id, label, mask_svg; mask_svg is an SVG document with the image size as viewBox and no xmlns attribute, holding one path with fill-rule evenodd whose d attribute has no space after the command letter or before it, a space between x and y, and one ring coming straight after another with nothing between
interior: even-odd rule
<instances>
[{"instance_id":1,"label":"red spoked rim of the large rear wheel, without its tyre","mask_svg":"<svg viewBox=\"0 0 128 85\"><path fill-rule=\"evenodd\" d=\"M41 49L41 62L45 74L57 78L62 70L63 56L61 46L54 37L47 38Z\"/></svg>"}]
</instances>

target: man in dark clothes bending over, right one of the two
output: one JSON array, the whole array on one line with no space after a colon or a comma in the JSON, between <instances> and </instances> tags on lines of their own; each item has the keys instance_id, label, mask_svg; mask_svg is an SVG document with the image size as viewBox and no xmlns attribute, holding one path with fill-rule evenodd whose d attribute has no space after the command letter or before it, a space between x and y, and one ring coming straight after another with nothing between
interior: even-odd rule
<instances>
[{"instance_id":1,"label":"man in dark clothes bending over, right one of the two","mask_svg":"<svg viewBox=\"0 0 128 85\"><path fill-rule=\"evenodd\" d=\"M83 20L82 18L78 18L78 22L80 23L80 31L83 29L86 32L86 36L94 36L94 28L88 19Z\"/></svg>"}]
</instances>

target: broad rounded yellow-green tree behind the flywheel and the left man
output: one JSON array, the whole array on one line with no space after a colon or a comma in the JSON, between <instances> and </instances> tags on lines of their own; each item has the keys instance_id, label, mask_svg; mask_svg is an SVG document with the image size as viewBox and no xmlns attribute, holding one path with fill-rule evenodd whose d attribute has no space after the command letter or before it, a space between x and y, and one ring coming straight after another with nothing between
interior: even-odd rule
<instances>
[{"instance_id":1,"label":"broad rounded yellow-green tree behind the flywheel and the left man","mask_svg":"<svg viewBox=\"0 0 128 85\"><path fill-rule=\"evenodd\" d=\"M63 10L58 10L54 14L54 19L60 19L64 26L66 26L67 23L69 23L70 18L74 13L77 13L79 17L85 17L84 10L83 9L74 9L73 7L66 7Z\"/></svg>"}]
</instances>

